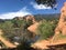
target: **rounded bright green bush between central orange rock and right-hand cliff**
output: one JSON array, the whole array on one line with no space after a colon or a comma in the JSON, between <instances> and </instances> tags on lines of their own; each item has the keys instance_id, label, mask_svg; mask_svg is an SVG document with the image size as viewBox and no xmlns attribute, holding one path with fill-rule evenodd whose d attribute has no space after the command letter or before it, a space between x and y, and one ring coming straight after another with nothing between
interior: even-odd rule
<instances>
[{"instance_id":1,"label":"rounded bright green bush between central orange rock and right-hand cliff","mask_svg":"<svg viewBox=\"0 0 66 50\"><path fill-rule=\"evenodd\" d=\"M43 20L37 28L37 33L40 34L41 39L48 39L54 34L54 22Z\"/></svg>"}]
</instances>

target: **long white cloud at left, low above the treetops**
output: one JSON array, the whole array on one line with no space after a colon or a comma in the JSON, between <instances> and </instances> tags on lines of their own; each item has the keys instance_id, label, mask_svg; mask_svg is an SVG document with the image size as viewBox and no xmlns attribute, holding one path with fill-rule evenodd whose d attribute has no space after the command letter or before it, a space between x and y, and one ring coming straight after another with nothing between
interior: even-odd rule
<instances>
[{"instance_id":1,"label":"long white cloud at left, low above the treetops","mask_svg":"<svg viewBox=\"0 0 66 50\"><path fill-rule=\"evenodd\" d=\"M23 17L23 16L26 16L26 14L31 14L31 13L30 13L29 9L26 9L26 7L24 7L16 12L2 13L2 14L0 14L0 19L12 19L14 17Z\"/></svg>"}]
</instances>

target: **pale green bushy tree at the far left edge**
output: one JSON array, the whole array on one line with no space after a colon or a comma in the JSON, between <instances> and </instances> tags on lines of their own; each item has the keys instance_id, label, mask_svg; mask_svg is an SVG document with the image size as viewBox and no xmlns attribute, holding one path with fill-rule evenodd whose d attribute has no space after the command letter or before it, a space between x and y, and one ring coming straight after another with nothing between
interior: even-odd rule
<instances>
[{"instance_id":1,"label":"pale green bushy tree at the far left edge","mask_svg":"<svg viewBox=\"0 0 66 50\"><path fill-rule=\"evenodd\" d=\"M14 37L14 28L11 21L4 21L3 23L1 23L0 29L3 30L3 36L7 37L8 39Z\"/></svg>"}]
</instances>

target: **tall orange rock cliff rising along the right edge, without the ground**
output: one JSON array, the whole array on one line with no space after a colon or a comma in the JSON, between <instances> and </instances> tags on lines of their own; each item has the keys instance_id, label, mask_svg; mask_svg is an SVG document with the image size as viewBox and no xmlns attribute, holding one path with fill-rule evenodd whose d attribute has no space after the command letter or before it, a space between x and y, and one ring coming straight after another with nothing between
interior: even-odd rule
<instances>
[{"instance_id":1,"label":"tall orange rock cliff rising along the right edge, without the ground","mask_svg":"<svg viewBox=\"0 0 66 50\"><path fill-rule=\"evenodd\" d=\"M61 18L55 29L55 33L66 34L66 2L64 2L63 8L61 9Z\"/></svg>"}]
</instances>

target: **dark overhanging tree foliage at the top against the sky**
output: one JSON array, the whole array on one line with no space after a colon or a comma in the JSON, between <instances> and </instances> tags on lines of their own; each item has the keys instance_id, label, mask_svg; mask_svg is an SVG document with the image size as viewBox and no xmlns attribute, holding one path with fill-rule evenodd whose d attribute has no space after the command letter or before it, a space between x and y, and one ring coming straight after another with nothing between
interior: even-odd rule
<instances>
[{"instance_id":1,"label":"dark overhanging tree foliage at the top against the sky","mask_svg":"<svg viewBox=\"0 0 66 50\"><path fill-rule=\"evenodd\" d=\"M56 0L35 0L37 4L45 4L46 7L54 8L56 4Z\"/></svg>"}]
</instances>

